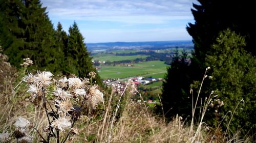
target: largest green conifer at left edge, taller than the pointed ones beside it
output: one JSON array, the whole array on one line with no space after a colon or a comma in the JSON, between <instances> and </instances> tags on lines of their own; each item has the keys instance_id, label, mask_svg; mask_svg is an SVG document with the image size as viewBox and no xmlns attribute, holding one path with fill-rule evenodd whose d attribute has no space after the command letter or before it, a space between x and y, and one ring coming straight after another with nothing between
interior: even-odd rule
<instances>
[{"instance_id":1,"label":"largest green conifer at left edge, taller than the pointed ones beside it","mask_svg":"<svg viewBox=\"0 0 256 143\"><path fill-rule=\"evenodd\" d=\"M4 33L10 42L4 47L5 53L10 58L10 63L19 67L23 58L34 61L32 68L59 70L58 52L54 47L54 29L46 13L46 8L41 7L38 0L4 1L4 16L7 20L3 27L8 32ZM3 42L3 40L1 39ZM15 52L14 52L15 51Z\"/></svg>"}]
</instances>

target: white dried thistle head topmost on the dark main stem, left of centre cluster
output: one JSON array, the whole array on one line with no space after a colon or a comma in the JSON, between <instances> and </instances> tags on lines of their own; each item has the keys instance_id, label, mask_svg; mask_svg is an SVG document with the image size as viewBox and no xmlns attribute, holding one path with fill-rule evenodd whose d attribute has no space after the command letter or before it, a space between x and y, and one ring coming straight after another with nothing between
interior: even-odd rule
<instances>
[{"instance_id":1,"label":"white dried thistle head topmost on the dark main stem, left of centre cluster","mask_svg":"<svg viewBox=\"0 0 256 143\"><path fill-rule=\"evenodd\" d=\"M41 85L41 86L48 86L50 85L51 79L52 79L53 74L49 71L43 71L43 72L37 72L35 76L35 80Z\"/></svg>"}]
</instances>

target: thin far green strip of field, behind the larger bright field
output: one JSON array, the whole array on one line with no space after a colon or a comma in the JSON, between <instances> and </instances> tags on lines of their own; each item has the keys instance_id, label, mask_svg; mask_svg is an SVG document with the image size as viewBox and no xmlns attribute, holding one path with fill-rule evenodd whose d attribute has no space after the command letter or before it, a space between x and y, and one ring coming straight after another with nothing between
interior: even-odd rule
<instances>
[{"instance_id":1,"label":"thin far green strip of field, behind the larger bright field","mask_svg":"<svg viewBox=\"0 0 256 143\"><path fill-rule=\"evenodd\" d=\"M94 56L93 60L98 61L123 61L123 60L135 60L137 58L146 58L148 55L125 55L125 56L119 56L119 55L113 55L113 54L97 54Z\"/></svg>"}]
</instances>

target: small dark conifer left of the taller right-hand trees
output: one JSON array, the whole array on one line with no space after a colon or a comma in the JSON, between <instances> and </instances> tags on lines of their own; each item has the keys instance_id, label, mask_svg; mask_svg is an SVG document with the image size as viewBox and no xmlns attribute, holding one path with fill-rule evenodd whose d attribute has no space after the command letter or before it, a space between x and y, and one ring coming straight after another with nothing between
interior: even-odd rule
<instances>
[{"instance_id":1,"label":"small dark conifer left of the taller right-hand trees","mask_svg":"<svg viewBox=\"0 0 256 143\"><path fill-rule=\"evenodd\" d=\"M189 84L192 82L187 74L189 61L186 52L179 55L175 53L173 62L167 69L163 81L162 103L165 116L169 119L179 116L191 115L191 98L189 98Z\"/></svg>"}]
</instances>

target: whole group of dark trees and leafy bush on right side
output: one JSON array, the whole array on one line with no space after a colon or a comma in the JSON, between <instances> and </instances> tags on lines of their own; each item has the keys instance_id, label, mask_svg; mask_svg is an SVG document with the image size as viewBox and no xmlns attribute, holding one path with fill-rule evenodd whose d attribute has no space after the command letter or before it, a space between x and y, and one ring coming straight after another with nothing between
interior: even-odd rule
<instances>
[{"instance_id":1,"label":"whole group of dark trees and leafy bush on right side","mask_svg":"<svg viewBox=\"0 0 256 143\"><path fill-rule=\"evenodd\" d=\"M191 63L186 60L186 53L177 54L163 82L165 115L172 119L178 114L191 120L191 108L195 106L205 69L210 67L206 75L211 78L204 80L196 117L199 117L200 105L204 105L206 97L213 93L216 97L206 111L205 123L215 128L221 123L221 131L239 131L241 137L248 134L254 136L256 2L198 2L191 9L195 23L188 23L186 27L194 42ZM190 89L193 89L193 95Z\"/></svg>"}]
</instances>

